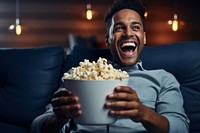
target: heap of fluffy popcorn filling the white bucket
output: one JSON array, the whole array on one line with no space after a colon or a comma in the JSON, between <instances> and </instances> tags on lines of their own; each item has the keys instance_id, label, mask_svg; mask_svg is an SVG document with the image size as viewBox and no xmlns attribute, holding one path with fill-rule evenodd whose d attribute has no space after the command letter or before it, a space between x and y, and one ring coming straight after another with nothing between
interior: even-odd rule
<instances>
[{"instance_id":1,"label":"heap of fluffy popcorn filling the white bucket","mask_svg":"<svg viewBox=\"0 0 200 133\"><path fill-rule=\"evenodd\" d=\"M115 69L107 59L99 58L97 62L85 59L79 66L73 67L70 73L64 73L64 79L74 80L124 80L129 75L126 71Z\"/></svg>"}]
</instances>

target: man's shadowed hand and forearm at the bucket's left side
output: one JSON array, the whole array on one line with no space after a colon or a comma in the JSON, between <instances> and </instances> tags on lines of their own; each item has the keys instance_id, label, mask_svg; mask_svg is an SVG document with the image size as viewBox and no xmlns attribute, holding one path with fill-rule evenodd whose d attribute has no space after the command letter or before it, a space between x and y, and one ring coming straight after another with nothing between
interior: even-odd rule
<instances>
[{"instance_id":1,"label":"man's shadowed hand and forearm at the bucket's left side","mask_svg":"<svg viewBox=\"0 0 200 133\"><path fill-rule=\"evenodd\" d=\"M42 126L42 133L58 133L66 122L81 114L78 97L71 91L59 89L53 95L51 104L55 115L49 117Z\"/></svg>"}]
</instances>

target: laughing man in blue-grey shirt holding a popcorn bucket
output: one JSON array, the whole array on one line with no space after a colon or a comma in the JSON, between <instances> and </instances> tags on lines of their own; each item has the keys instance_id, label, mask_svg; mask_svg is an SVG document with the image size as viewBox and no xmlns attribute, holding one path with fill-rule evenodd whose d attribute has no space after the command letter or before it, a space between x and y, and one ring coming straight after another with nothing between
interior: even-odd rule
<instances>
[{"instance_id":1,"label":"laughing man in blue-grey shirt holding a popcorn bucket","mask_svg":"<svg viewBox=\"0 0 200 133\"><path fill-rule=\"evenodd\" d=\"M143 69L139 60L146 44L144 11L138 0L118 0L105 18L106 44L111 50L112 64L130 76L129 85L116 87L108 95L112 102L105 103L110 108L109 115L119 117L110 125L110 133L187 133L189 120L184 113L178 82L164 70ZM81 105L78 97L66 89L55 92L51 104L53 111L39 116L32 123L32 132L106 131L105 126L84 126L70 121L81 114Z\"/></svg>"}]
</instances>

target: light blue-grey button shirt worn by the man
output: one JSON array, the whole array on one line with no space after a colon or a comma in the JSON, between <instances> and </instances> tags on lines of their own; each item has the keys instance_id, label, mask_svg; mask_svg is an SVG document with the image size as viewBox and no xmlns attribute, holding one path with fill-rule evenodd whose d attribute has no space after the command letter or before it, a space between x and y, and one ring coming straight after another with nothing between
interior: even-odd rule
<instances>
[{"instance_id":1,"label":"light blue-grey button shirt worn by the man","mask_svg":"<svg viewBox=\"0 0 200 133\"><path fill-rule=\"evenodd\" d=\"M188 133L189 120L183 108L183 98L179 89L179 83L175 77L165 70L145 70L139 61L131 67L120 67L112 63L115 68L122 69L129 74L128 85L134 89L141 102L149 108L155 110L169 121L169 133ZM40 133L42 123L50 115L53 115L50 107L46 113L37 117L31 125L31 133ZM68 123L63 127L64 133ZM120 117L109 125L110 133L141 133L146 132L141 123L136 123L129 118ZM76 125L71 133L106 133L106 125L85 126Z\"/></svg>"}]
</instances>

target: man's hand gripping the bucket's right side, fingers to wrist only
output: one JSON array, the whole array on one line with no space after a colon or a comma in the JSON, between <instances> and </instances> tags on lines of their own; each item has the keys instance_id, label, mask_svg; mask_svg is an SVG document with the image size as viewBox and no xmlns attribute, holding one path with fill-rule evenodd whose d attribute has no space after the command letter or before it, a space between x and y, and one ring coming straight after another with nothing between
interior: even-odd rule
<instances>
[{"instance_id":1,"label":"man's hand gripping the bucket's right side, fingers to wrist only","mask_svg":"<svg viewBox=\"0 0 200 133\"><path fill-rule=\"evenodd\" d=\"M118 86L114 93L108 95L108 102L111 115L133 117L138 116L142 105L136 92L128 86Z\"/></svg>"}]
</instances>

